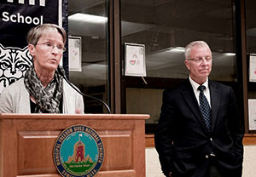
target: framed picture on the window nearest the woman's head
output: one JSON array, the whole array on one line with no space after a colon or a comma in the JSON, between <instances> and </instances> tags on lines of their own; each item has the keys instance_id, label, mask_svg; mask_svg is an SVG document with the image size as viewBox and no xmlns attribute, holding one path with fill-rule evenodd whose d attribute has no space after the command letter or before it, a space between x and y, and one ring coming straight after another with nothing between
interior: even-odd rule
<instances>
[{"instance_id":1,"label":"framed picture on the window nearest the woman's head","mask_svg":"<svg viewBox=\"0 0 256 177\"><path fill-rule=\"evenodd\" d=\"M82 37L68 37L69 71L82 71Z\"/></svg>"}]
</instances>

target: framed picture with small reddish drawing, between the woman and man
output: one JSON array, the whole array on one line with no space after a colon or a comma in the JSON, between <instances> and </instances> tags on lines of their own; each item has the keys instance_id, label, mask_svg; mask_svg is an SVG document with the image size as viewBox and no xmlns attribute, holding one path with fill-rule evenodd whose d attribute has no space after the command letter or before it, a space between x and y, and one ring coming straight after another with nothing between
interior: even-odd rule
<instances>
[{"instance_id":1,"label":"framed picture with small reddish drawing, between the woman and man","mask_svg":"<svg viewBox=\"0 0 256 177\"><path fill-rule=\"evenodd\" d=\"M146 77L144 44L125 43L125 76Z\"/></svg>"}]
</instances>

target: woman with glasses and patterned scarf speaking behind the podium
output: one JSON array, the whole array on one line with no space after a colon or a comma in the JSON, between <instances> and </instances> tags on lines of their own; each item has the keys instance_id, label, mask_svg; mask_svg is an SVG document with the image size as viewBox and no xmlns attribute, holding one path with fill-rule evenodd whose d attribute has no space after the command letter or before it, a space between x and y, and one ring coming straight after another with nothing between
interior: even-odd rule
<instances>
[{"instance_id":1,"label":"woman with glasses and patterned scarf speaking behind the podium","mask_svg":"<svg viewBox=\"0 0 256 177\"><path fill-rule=\"evenodd\" d=\"M3 90L0 113L84 113L82 95L57 70L65 51L66 31L43 24L32 28L26 39L33 66L24 78Z\"/></svg>"}]
</instances>

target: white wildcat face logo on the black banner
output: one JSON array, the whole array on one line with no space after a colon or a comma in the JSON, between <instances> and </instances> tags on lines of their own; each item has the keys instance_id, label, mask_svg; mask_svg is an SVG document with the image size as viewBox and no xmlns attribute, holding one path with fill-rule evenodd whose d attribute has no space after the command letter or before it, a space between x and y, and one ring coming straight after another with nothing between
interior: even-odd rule
<instances>
[{"instance_id":1,"label":"white wildcat face logo on the black banner","mask_svg":"<svg viewBox=\"0 0 256 177\"><path fill-rule=\"evenodd\" d=\"M26 48L4 48L0 43L0 93L3 88L23 77L27 68L32 66L32 56Z\"/></svg>"}]
</instances>

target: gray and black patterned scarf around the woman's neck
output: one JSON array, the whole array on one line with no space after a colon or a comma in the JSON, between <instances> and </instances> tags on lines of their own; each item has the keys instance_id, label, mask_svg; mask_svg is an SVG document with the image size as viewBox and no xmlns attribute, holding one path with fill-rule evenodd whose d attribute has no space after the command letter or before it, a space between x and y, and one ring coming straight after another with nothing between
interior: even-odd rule
<instances>
[{"instance_id":1,"label":"gray and black patterned scarf around the woman's neck","mask_svg":"<svg viewBox=\"0 0 256 177\"><path fill-rule=\"evenodd\" d=\"M63 69L61 68L61 70ZM36 100L37 106L35 112L60 113L60 102L63 91L63 77L61 75L55 71L54 78L44 88L32 66L25 73L24 83L28 93Z\"/></svg>"}]
</instances>

